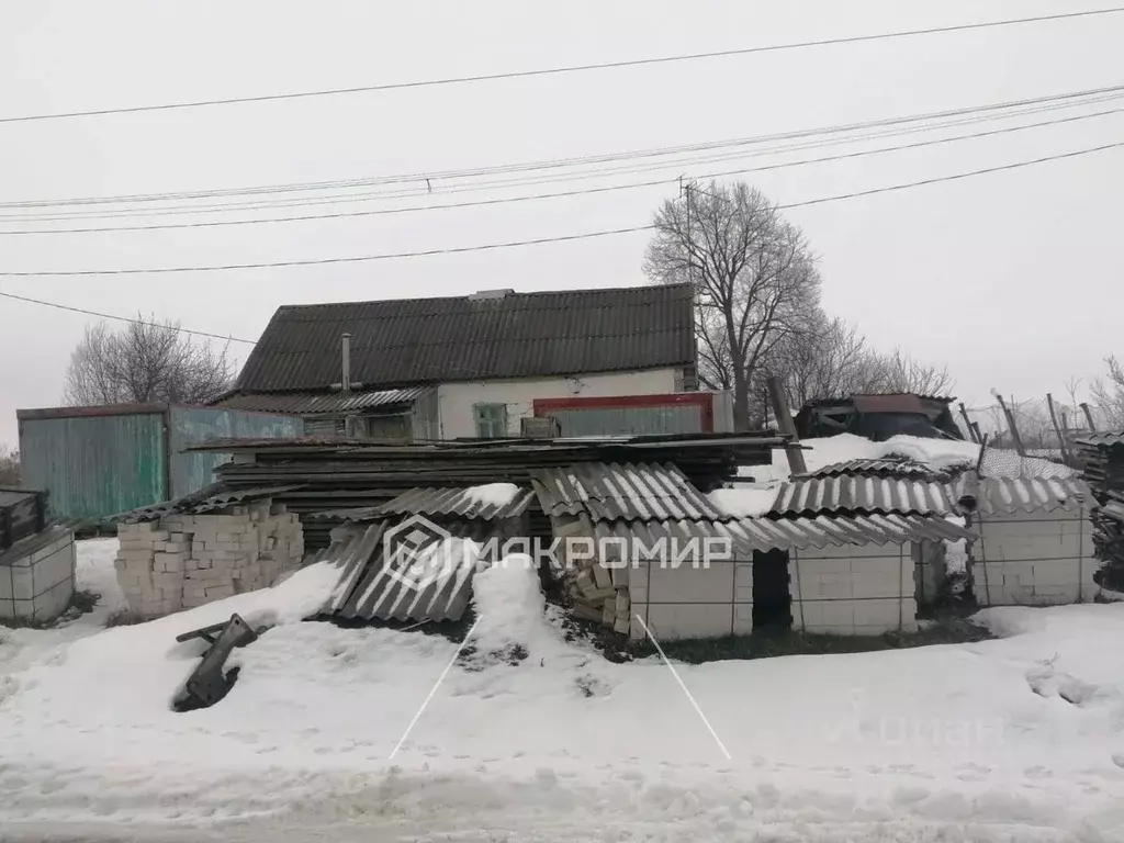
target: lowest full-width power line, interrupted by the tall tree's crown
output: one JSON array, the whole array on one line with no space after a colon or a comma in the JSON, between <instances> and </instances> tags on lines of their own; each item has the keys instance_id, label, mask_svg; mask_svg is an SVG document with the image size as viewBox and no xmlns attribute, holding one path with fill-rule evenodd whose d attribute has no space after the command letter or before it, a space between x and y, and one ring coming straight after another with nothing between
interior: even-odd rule
<instances>
[{"instance_id":1,"label":"lowest full-width power line, interrupted by the tall tree's crown","mask_svg":"<svg viewBox=\"0 0 1124 843\"><path fill-rule=\"evenodd\" d=\"M1010 164L1001 164L999 166L984 167L981 170L971 170L966 173L954 173L952 175L941 175L932 179L922 179L921 181L907 182L904 184L890 184L883 188L873 188L871 190L860 190L852 193L841 193L837 196L822 197L819 199L806 199L800 202L789 202L787 205L776 206L778 210L787 210L789 208L805 208L813 205L824 205L826 202L837 202L846 199L856 199L859 197L876 196L878 193L889 193L898 190L907 190L909 188L919 188L927 184L936 184L945 181L958 181L961 179L969 179L976 175L985 175L988 173L998 173L1006 170L1018 170L1021 167L1033 166L1035 164L1043 164L1050 161L1061 161L1063 158L1075 158L1080 155L1089 155L1091 153L1104 152L1107 149L1115 149L1118 147L1124 147L1124 140L1103 144L1102 146L1094 146L1087 149L1075 149L1072 152L1059 153L1057 155L1046 155L1041 158L1034 158L1032 161L1018 161ZM635 232L646 232L654 228L653 225L644 226L633 226L631 228L611 228L600 232L586 232L582 234L568 234L554 237L536 237L534 239L527 241L509 241L506 243L486 243L474 246L454 246L446 248L429 248L420 252L392 252L387 254L378 255L359 255L359 256L347 256L347 257L316 257L308 260L294 260L294 261L271 261L266 263L230 263L220 264L212 266L154 266L146 269L124 269L124 270L69 270L69 271L52 271L52 272L0 272L0 277L3 278L45 278L45 277L71 277L71 275L143 275L143 274L166 274L176 272L228 272L234 270L261 270L261 269L274 269L281 266L318 266L324 264L334 263L364 263L370 261L389 261L405 257L430 257L434 255L452 255L452 254L463 254L466 252L488 252L498 248L513 248L518 246L535 246L545 243L565 243L571 241L582 241L592 239L596 237L608 237L617 234L633 234Z\"/></svg>"}]
</instances>

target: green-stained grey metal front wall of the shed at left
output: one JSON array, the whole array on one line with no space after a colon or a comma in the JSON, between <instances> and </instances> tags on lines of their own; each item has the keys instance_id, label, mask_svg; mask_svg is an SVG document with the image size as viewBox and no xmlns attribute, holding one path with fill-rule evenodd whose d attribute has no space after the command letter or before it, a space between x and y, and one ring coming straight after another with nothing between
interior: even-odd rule
<instances>
[{"instance_id":1,"label":"green-stained grey metal front wall of the shed at left","mask_svg":"<svg viewBox=\"0 0 1124 843\"><path fill-rule=\"evenodd\" d=\"M60 518L101 518L169 497L164 413L21 418L22 482Z\"/></svg>"}]
</instances>

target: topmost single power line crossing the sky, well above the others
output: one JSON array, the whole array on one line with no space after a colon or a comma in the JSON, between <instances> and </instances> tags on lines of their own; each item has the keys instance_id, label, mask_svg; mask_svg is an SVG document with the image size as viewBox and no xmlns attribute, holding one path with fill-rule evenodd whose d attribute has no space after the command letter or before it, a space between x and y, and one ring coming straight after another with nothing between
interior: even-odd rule
<instances>
[{"instance_id":1,"label":"topmost single power line crossing the sky, well above the others","mask_svg":"<svg viewBox=\"0 0 1124 843\"><path fill-rule=\"evenodd\" d=\"M632 58L619 62L600 62L595 64L574 64L562 67L546 67L529 71L510 71L507 73L482 73L471 76L448 76L445 79L416 80L413 82L390 82L375 85L356 85L353 88L332 88L319 91L297 91L290 93L268 93L254 97L229 97L224 99L191 100L187 102L167 102L151 106L126 106L121 108L101 108L88 111L61 111L55 114L21 115L18 117L2 117L0 123L28 123L31 120L57 120L71 117L102 117L106 115L137 114L140 111L170 111L173 109L202 108L209 106L232 106L245 102L271 102L277 100L307 99L311 97L337 97L352 93L370 93L375 91L397 91L413 88L433 88L447 84L465 84L471 82L492 82L504 79L528 79L532 76L546 76L560 73L582 73L595 70L615 70L619 67L638 67L650 64L665 64L671 62L694 62L704 58L720 58L736 55L752 55L755 53L776 53L785 49L805 49L808 47L825 47L837 44L861 44L872 40L886 40L890 38L908 38L919 35L941 35L945 33L969 31L973 29L988 29L992 27L1019 26L1023 24L1040 24L1053 20L1067 20L1073 18L1087 18L1099 15L1115 15L1124 11L1124 7L1113 7L1108 9L1089 9L1086 11L1072 11L1058 15L1040 15L1030 18L1009 18L1005 20L988 20L976 24L957 24L953 26L930 27L926 29L904 29L895 33L878 33L873 35L852 35L842 38L823 38L819 40L794 42L789 44L771 44L759 47L743 47L738 49L720 49L713 53L687 53L682 55L659 56L654 58Z\"/></svg>"}]
</instances>

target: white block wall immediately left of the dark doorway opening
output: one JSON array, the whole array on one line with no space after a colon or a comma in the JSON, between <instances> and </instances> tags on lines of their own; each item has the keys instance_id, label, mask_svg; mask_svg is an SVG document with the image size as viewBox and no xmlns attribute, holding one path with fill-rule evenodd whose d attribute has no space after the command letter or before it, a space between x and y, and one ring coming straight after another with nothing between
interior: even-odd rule
<instances>
[{"instance_id":1,"label":"white block wall immediately left of the dark doorway opening","mask_svg":"<svg viewBox=\"0 0 1124 843\"><path fill-rule=\"evenodd\" d=\"M749 635L753 631L753 563L714 560L678 568L642 560L629 572L629 634L646 637L636 615L659 641Z\"/></svg>"}]
</instances>

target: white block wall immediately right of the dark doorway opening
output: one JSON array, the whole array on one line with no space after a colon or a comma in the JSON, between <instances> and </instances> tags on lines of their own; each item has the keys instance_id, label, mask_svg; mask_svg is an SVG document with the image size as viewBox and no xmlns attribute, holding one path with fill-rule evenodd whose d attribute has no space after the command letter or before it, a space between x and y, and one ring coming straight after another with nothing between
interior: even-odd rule
<instances>
[{"instance_id":1,"label":"white block wall immediately right of the dark doorway opening","mask_svg":"<svg viewBox=\"0 0 1124 843\"><path fill-rule=\"evenodd\" d=\"M917 628L908 543L794 550L788 570L796 631L880 635Z\"/></svg>"}]
</instances>

